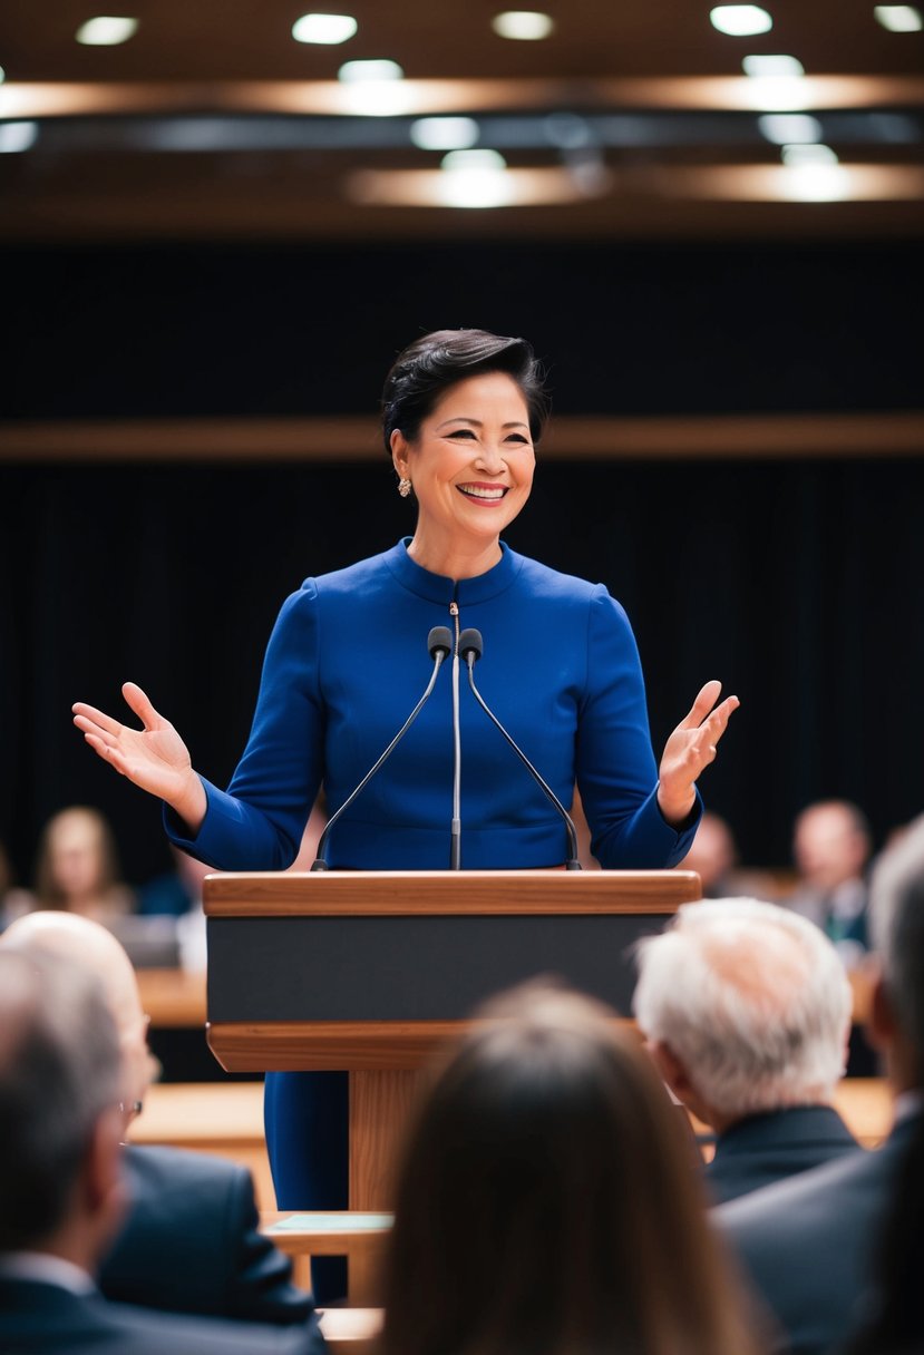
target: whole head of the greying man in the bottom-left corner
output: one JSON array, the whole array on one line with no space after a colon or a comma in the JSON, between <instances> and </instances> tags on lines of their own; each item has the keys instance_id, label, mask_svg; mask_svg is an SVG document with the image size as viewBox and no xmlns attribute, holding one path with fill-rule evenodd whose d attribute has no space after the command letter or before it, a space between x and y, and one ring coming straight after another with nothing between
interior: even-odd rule
<instances>
[{"instance_id":1,"label":"whole head of the greying man in the bottom-left corner","mask_svg":"<svg viewBox=\"0 0 924 1355\"><path fill-rule=\"evenodd\" d=\"M99 985L0 947L0 1252L84 1268L118 1224L119 1051Z\"/></svg>"}]
</instances>

